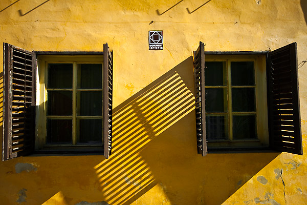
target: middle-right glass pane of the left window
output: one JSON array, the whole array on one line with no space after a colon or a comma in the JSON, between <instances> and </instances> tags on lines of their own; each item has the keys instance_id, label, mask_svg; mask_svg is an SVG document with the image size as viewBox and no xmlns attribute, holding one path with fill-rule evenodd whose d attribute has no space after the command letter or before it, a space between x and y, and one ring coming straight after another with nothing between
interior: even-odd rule
<instances>
[{"instance_id":1,"label":"middle-right glass pane of the left window","mask_svg":"<svg viewBox=\"0 0 307 205\"><path fill-rule=\"evenodd\" d=\"M102 116L102 91L78 91L77 115Z\"/></svg>"}]
</instances>

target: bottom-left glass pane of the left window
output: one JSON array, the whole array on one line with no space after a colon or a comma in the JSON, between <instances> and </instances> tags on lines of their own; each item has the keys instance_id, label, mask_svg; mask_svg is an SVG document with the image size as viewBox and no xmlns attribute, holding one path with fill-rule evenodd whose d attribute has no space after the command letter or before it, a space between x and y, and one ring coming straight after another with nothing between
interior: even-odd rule
<instances>
[{"instance_id":1,"label":"bottom-left glass pane of the left window","mask_svg":"<svg viewBox=\"0 0 307 205\"><path fill-rule=\"evenodd\" d=\"M47 119L47 143L71 143L71 119Z\"/></svg>"}]
</instances>

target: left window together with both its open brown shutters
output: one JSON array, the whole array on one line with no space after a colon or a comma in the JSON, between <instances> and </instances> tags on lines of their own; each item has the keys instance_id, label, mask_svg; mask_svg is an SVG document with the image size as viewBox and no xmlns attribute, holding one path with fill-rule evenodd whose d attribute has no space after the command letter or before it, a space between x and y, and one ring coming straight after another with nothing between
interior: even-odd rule
<instances>
[{"instance_id":1,"label":"left window together with both its open brown shutters","mask_svg":"<svg viewBox=\"0 0 307 205\"><path fill-rule=\"evenodd\" d=\"M28 52L5 43L3 160L33 152L108 158L112 54L107 44L103 52Z\"/></svg>"}]
</instances>

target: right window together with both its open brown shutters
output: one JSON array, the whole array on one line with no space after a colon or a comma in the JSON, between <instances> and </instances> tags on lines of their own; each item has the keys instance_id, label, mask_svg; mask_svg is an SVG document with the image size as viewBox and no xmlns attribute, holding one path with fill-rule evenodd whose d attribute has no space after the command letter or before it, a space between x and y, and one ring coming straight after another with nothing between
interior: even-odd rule
<instances>
[{"instance_id":1,"label":"right window together with both its open brown shutters","mask_svg":"<svg viewBox=\"0 0 307 205\"><path fill-rule=\"evenodd\" d=\"M194 77L203 156L207 150L265 147L302 154L296 43L267 54L205 53L200 43Z\"/></svg>"}]
</instances>

